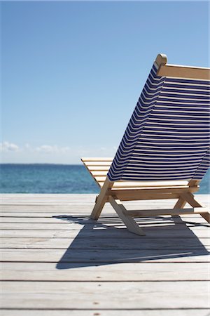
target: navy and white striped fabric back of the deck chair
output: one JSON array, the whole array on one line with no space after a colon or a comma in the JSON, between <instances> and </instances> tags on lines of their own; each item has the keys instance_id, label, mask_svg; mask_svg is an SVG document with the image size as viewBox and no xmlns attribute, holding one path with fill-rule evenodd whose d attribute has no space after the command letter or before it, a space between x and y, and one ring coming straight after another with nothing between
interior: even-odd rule
<instances>
[{"instance_id":1,"label":"navy and white striped fabric back of the deck chair","mask_svg":"<svg viewBox=\"0 0 210 316\"><path fill-rule=\"evenodd\" d=\"M113 159L116 180L201 180L209 168L210 81L158 77L153 65Z\"/></svg>"}]
</instances>

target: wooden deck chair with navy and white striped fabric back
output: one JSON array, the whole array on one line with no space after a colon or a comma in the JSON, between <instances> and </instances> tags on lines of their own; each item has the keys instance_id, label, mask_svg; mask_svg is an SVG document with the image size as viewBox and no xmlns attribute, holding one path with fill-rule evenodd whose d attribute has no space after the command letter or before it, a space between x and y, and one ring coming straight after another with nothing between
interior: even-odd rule
<instances>
[{"instance_id":1,"label":"wooden deck chair with navy and white striped fabric back","mask_svg":"<svg viewBox=\"0 0 210 316\"><path fill-rule=\"evenodd\" d=\"M200 213L193 195L209 168L210 69L168 65L159 54L127 125L116 156L83 158L101 192L91 218L111 203L130 232L145 235L141 216ZM128 211L123 201L178 199L174 209ZM190 208L183 209L186 203Z\"/></svg>"}]
</instances>

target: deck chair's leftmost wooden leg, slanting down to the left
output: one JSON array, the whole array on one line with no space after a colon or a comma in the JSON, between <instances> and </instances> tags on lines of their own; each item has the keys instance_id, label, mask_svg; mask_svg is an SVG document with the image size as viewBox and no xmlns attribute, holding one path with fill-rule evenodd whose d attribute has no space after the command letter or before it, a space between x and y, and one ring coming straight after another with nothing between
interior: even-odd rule
<instances>
[{"instance_id":1,"label":"deck chair's leftmost wooden leg, slanting down to the left","mask_svg":"<svg viewBox=\"0 0 210 316\"><path fill-rule=\"evenodd\" d=\"M90 215L90 218L92 218L93 220L97 220L100 214L102 213L104 204L107 202L108 190L112 187L112 185L113 185L113 182L111 182L108 178L106 178L104 185L102 187L102 190L96 199L94 208Z\"/></svg>"}]
</instances>

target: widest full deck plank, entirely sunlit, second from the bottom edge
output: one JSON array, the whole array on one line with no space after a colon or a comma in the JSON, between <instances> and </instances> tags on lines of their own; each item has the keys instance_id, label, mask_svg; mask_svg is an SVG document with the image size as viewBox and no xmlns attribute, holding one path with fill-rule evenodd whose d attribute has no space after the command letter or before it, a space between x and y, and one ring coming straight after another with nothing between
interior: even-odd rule
<instances>
[{"instance_id":1,"label":"widest full deck plank, entirely sunlit, second from the bottom edge","mask_svg":"<svg viewBox=\"0 0 210 316\"><path fill-rule=\"evenodd\" d=\"M1 282L2 308L209 308L209 282ZM120 291L119 291L120 289ZM196 291L195 291L196 289ZM173 295L172 295L173 293ZM81 295L82 294L82 295ZM154 294L154 295L153 295ZM152 296L152 299L151 299Z\"/></svg>"}]
</instances>

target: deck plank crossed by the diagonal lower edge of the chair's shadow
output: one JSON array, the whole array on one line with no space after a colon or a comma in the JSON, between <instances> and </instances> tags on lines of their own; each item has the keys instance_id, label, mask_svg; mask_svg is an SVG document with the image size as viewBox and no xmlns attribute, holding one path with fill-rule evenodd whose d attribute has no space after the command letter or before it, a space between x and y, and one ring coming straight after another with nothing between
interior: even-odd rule
<instances>
[{"instance_id":1,"label":"deck plank crossed by the diagonal lower edge of the chair's shadow","mask_svg":"<svg viewBox=\"0 0 210 316\"><path fill-rule=\"evenodd\" d=\"M54 262L59 268L60 262L83 265L112 264L125 262L209 262L207 249L1 249L2 262Z\"/></svg>"}]
</instances>

